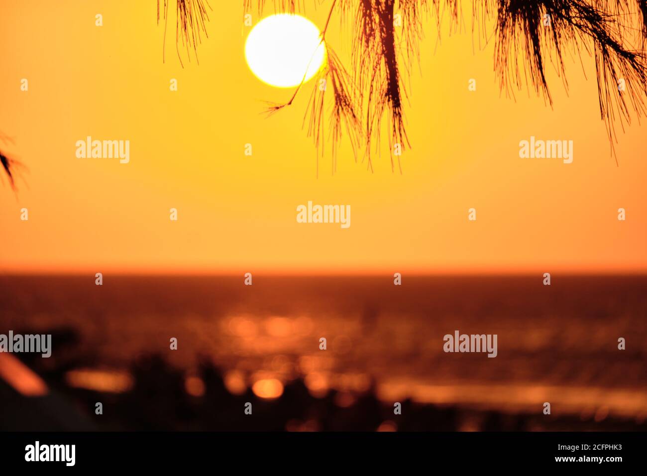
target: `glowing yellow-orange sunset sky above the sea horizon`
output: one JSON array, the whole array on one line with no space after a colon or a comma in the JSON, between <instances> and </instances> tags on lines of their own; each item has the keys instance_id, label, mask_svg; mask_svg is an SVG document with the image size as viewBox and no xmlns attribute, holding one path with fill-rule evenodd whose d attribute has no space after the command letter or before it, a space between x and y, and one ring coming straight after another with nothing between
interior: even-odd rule
<instances>
[{"instance_id":1,"label":"glowing yellow-orange sunset sky above the sea horizon","mask_svg":"<svg viewBox=\"0 0 647 476\"><path fill-rule=\"evenodd\" d=\"M647 271L647 124L619 128L616 166L590 58L588 80L567 63L568 94L549 73L551 109L534 93L499 95L493 45L473 54L469 31L436 45L429 28L408 89L402 174L387 150L367 172L346 142L336 173L327 155L317 178L301 129L309 87L265 119L263 100L291 91L250 73L241 3L222 3L200 65L184 55L184 69L174 14L162 63L152 0L2 6L0 131L15 141L3 150L29 172L17 194L6 180L0 187L1 272ZM324 10L306 16L321 27ZM328 40L347 58L349 35L333 23ZM77 159L75 143L88 135L129 140L130 162ZM573 163L520 159L519 141L531 135L572 140ZM351 227L297 223L309 200L351 205ZM472 207L476 221L467 220Z\"/></svg>"}]
</instances>

